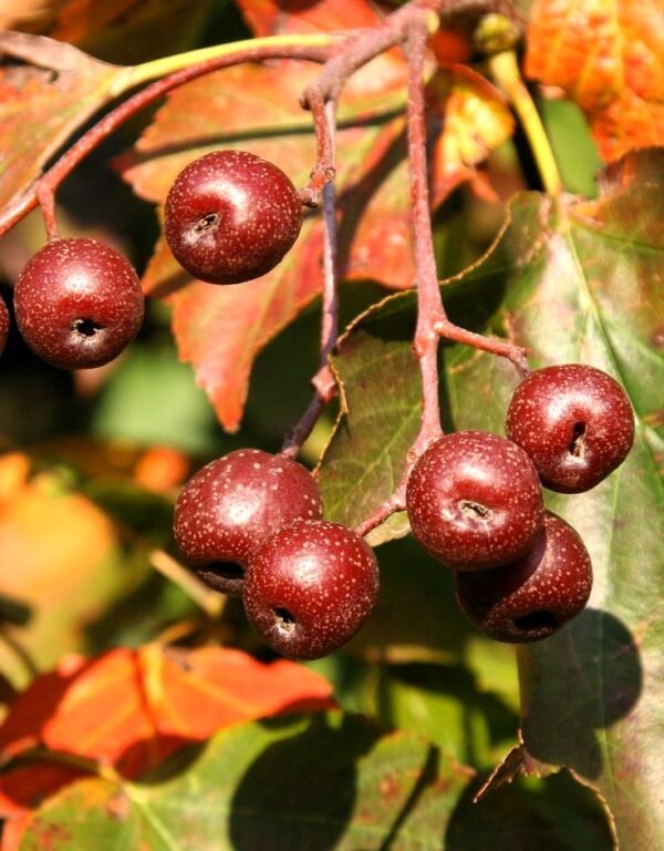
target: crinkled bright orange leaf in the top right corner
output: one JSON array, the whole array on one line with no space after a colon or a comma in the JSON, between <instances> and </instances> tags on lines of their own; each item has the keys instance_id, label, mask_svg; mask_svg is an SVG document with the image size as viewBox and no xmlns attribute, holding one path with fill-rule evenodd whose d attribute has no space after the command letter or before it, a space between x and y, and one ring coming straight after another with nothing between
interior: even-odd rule
<instances>
[{"instance_id":1,"label":"crinkled bright orange leaf in the top right corner","mask_svg":"<svg viewBox=\"0 0 664 851\"><path fill-rule=\"evenodd\" d=\"M587 114L605 161L664 137L661 0L537 0L526 73Z\"/></svg>"}]
</instances>

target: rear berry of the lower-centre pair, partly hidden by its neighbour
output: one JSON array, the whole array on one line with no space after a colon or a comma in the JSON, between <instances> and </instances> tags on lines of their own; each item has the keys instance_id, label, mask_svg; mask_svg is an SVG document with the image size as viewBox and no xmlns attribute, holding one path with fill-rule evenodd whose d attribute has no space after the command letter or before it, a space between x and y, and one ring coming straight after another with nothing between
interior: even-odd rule
<instances>
[{"instance_id":1,"label":"rear berry of the lower-centre pair, partly hidden by its neighbour","mask_svg":"<svg viewBox=\"0 0 664 851\"><path fill-rule=\"evenodd\" d=\"M293 520L322 516L319 486L307 468L260 449L239 449L199 470L175 505L175 541L199 577L240 594L258 545Z\"/></svg>"}]
</instances>

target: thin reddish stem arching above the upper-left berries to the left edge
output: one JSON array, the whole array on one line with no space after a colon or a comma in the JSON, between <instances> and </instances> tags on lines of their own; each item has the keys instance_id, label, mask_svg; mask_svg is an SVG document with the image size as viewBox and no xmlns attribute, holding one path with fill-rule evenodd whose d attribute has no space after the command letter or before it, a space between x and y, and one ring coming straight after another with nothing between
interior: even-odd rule
<instances>
[{"instance_id":1,"label":"thin reddish stem arching above the upper-left berries to the left edge","mask_svg":"<svg viewBox=\"0 0 664 851\"><path fill-rule=\"evenodd\" d=\"M6 207L0 213L0 236L6 234L37 207L39 203L38 193L44 197L49 192L54 195L60 184L91 151L114 133L121 124L173 89L211 71L219 71L241 62L257 62L266 59L299 59L310 62L324 62L329 51L330 49L324 47L303 48L300 44L280 47L270 43L267 47L251 47L232 53L216 55L196 65L189 65L176 71L162 80L157 80L128 98L101 119L30 189L21 195L17 202ZM52 223L46 221L45 224L49 232Z\"/></svg>"}]
</instances>

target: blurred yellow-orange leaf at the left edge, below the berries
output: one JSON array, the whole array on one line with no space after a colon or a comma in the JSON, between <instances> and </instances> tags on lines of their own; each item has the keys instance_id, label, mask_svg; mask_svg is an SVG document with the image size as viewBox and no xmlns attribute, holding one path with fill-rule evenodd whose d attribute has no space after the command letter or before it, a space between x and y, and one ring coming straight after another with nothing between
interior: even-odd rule
<instances>
[{"instance_id":1,"label":"blurred yellow-orange leaf at the left edge, below the berries","mask_svg":"<svg viewBox=\"0 0 664 851\"><path fill-rule=\"evenodd\" d=\"M0 593L32 612L0 643L0 670L18 687L81 648L91 618L148 570L91 500L55 472L30 478L30 469L25 455L0 459Z\"/></svg>"}]
</instances>

